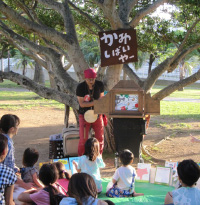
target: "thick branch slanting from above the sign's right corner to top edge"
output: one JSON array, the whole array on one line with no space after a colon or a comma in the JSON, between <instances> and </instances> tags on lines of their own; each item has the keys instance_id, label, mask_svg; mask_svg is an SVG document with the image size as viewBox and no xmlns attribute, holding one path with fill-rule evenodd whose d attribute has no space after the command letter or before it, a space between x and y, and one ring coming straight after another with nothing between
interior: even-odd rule
<instances>
[{"instance_id":1,"label":"thick branch slanting from above the sign's right corner to top edge","mask_svg":"<svg viewBox=\"0 0 200 205\"><path fill-rule=\"evenodd\" d=\"M169 2L169 0L157 0L153 4L148 5L148 7L141 9L140 11L138 11L137 15L131 20L129 25L135 28L143 17L145 17L147 14L152 13L160 5L167 3L167 2Z\"/></svg>"}]
</instances>

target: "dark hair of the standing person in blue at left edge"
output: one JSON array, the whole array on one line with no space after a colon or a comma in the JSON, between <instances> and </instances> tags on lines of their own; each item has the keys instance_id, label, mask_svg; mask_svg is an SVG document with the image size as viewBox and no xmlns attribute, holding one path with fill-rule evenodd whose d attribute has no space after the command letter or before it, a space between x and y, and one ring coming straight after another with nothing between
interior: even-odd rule
<instances>
[{"instance_id":1,"label":"dark hair of the standing person in blue at left edge","mask_svg":"<svg viewBox=\"0 0 200 205\"><path fill-rule=\"evenodd\" d=\"M20 124L20 119L17 115L6 114L1 117L0 129L3 133L7 134L11 127L16 127Z\"/></svg>"}]
</instances>

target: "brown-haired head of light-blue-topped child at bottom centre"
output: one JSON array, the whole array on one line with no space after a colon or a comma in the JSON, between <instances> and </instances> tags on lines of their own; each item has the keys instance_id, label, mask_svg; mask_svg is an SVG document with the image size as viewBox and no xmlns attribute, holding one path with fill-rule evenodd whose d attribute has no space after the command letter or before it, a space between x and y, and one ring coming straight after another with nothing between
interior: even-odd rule
<instances>
[{"instance_id":1,"label":"brown-haired head of light-blue-topped child at bottom centre","mask_svg":"<svg viewBox=\"0 0 200 205\"><path fill-rule=\"evenodd\" d=\"M94 179L86 173L73 174L69 180L68 194L82 204L83 198L97 197L97 188Z\"/></svg>"}]
</instances>

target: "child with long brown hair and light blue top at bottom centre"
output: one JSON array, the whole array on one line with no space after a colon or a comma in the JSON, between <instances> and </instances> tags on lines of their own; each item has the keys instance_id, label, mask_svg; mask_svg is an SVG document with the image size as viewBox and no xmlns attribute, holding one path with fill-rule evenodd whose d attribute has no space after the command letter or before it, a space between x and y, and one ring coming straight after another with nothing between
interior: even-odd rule
<instances>
[{"instance_id":1,"label":"child with long brown hair and light blue top at bottom centre","mask_svg":"<svg viewBox=\"0 0 200 205\"><path fill-rule=\"evenodd\" d=\"M60 205L67 204L99 204L107 203L97 199L97 188L94 179L86 173L73 174L68 187L69 197L62 199Z\"/></svg>"}]
</instances>

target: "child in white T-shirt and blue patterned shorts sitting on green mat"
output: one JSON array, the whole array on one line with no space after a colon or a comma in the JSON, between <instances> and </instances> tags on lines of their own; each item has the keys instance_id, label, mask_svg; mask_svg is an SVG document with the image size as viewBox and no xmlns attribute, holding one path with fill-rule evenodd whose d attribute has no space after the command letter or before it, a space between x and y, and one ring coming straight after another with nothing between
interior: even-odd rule
<instances>
[{"instance_id":1,"label":"child in white T-shirt and blue patterned shorts sitting on green mat","mask_svg":"<svg viewBox=\"0 0 200 205\"><path fill-rule=\"evenodd\" d=\"M136 197L143 196L143 193L136 193L134 190L134 182L136 177L136 171L131 166L133 163L133 153L125 149L120 154L120 161L122 166L119 167L112 178L113 186L108 188L106 195L108 197ZM109 186L109 184L108 184Z\"/></svg>"}]
</instances>

